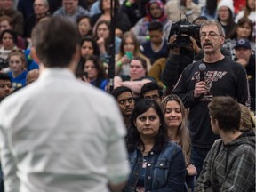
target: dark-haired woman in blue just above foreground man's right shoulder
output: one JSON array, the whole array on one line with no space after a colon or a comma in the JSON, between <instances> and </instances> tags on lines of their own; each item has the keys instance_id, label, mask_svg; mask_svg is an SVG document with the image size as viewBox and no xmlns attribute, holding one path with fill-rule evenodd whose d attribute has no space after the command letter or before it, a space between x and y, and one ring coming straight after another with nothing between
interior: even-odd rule
<instances>
[{"instance_id":1,"label":"dark-haired woman in blue just above foreground man's right shoulder","mask_svg":"<svg viewBox=\"0 0 256 192\"><path fill-rule=\"evenodd\" d=\"M106 78L102 63L95 55L85 58L84 65L77 70L76 76L103 91L107 91L108 79Z\"/></svg>"}]
</instances>

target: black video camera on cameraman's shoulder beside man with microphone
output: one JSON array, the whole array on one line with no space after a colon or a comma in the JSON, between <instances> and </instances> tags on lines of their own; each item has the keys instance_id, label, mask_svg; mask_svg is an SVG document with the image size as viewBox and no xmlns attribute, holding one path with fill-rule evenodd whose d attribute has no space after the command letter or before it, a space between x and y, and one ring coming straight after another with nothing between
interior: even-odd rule
<instances>
[{"instance_id":1,"label":"black video camera on cameraman's shoulder beside man with microphone","mask_svg":"<svg viewBox=\"0 0 256 192\"><path fill-rule=\"evenodd\" d=\"M176 47L188 47L191 43L189 36L199 40L200 26L194 25L188 21L188 19L181 19L175 23L172 23L172 27L168 36L168 40L174 34L177 35L174 46ZM188 35L188 36L184 36ZM172 48L172 47L171 47Z\"/></svg>"}]
</instances>

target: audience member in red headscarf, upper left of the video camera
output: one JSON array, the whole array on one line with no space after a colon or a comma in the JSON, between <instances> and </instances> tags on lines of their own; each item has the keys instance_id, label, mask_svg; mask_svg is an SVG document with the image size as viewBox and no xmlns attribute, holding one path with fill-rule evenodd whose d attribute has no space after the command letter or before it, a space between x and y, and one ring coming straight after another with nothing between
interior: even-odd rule
<instances>
[{"instance_id":1,"label":"audience member in red headscarf, upper left of the video camera","mask_svg":"<svg viewBox=\"0 0 256 192\"><path fill-rule=\"evenodd\" d=\"M133 28L132 32L137 36L140 44L150 39L148 36L148 24L157 20L163 24L167 24L168 18L164 12L164 4L160 0L150 0L145 7L147 16L141 18Z\"/></svg>"}]
</instances>

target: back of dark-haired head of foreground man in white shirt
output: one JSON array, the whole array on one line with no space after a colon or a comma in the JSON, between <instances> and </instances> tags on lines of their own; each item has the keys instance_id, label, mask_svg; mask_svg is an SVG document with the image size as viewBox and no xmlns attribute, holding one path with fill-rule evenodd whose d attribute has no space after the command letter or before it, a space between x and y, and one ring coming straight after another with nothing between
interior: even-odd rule
<instances>
[{"instance_id":1,"label":"back of dark-haired head of foreground man in white shirt","mask_svg":"<svg viewBox=\"0 0 256 192\"><path fill-rule=\"evenodd\" d=\"M73 59L79 35L74 23L60 17L47 17L32 32L36 56L46 68L66 68Z\"/></svg>"}]
</instances>

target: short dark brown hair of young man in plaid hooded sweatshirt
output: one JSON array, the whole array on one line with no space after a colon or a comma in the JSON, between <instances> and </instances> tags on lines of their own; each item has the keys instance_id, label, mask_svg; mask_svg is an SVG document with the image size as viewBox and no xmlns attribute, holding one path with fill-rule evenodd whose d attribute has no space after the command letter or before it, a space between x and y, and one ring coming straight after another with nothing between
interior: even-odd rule
<instances>
[{"instance_id":1,"label":"short dark brown hair of young man in plaid hooded sweatshirt","mask_svg":"<svg viewBox=\"0 0 256 192\"><path fill-rule=\"evenodd\" d=\"M218 120L223 132L236 132L239 130L241 108L236 100L229 96L214 97L208 104L209 114Z\"/></svg>"}]
</instances>

